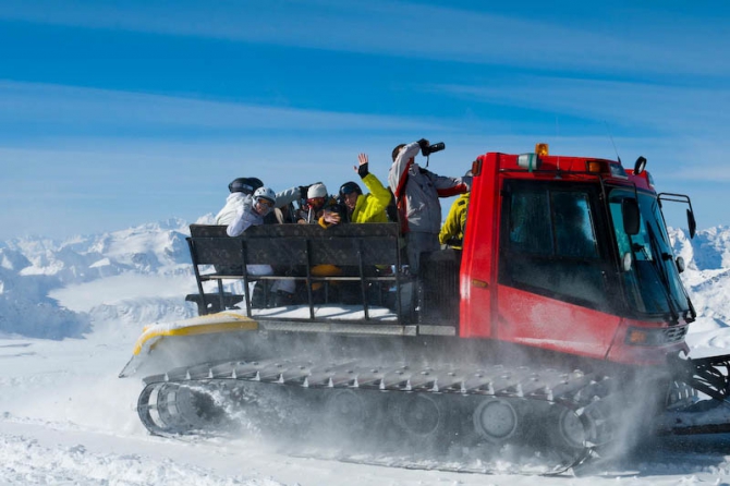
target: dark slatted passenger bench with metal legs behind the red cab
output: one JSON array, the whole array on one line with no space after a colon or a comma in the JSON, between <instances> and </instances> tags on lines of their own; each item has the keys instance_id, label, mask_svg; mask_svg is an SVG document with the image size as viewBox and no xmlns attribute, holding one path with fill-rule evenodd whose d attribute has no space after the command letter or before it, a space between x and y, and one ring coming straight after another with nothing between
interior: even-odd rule
<instances>
[{"instance_id":1,"label":"dark slatted passenger bench with metal legs behind the red cab","mask_svg":"<svg viewBox=\"0 0 730 486\"><path fill-rule=\"evenodd\" d=\"M400 268L399 232L396 223L341 224L324 229L317 224L264 224L248 228L241 236L230 238L224 226L191 224L187 238L197 281L198 295L187 300L198 304L198 311L208 313L230 308L236 296L223 292L223 281L240 279L244 282L247 315L251 316L248 283L254 281L304 281L307 290L309 319L315 319L312 288L315 282L360 282L365 319L369 319L367 290L370 283L397 289L396 305L400 315L400 280L398 271L376 275L376 267ZM288 275L251 275L246 265L270 265L290 268ZM340 276L314 275L312 269L321 265L346 268ZM212 266L214 271L210 271ZM218 293L206 294L203 282L216 281ZM211 299L217 299L211 305ZM236 301L240 302L240 301Z\"/></svg>"}]
</instances>

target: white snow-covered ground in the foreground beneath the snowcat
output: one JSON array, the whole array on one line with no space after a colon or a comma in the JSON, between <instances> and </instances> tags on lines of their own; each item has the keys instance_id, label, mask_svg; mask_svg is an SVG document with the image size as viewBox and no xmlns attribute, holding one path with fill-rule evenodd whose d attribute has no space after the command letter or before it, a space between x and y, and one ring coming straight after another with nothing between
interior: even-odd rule
<instances>
[{"instance_id":1,"label":"white snow-covered ground in the foreground beneath the snowcat","mask_svg":"<svg viewBox=\"0 0 730 486\"><path fill-rule=\"evenodd\" d=\"M718 332L691 336L698 348ZM728 338L727 332L723 338ZM83 339L0 339L0 484L621 485L730 483L730 437L672 440L581 476L478 475L292 458L260 439L153 437L135 412L142 385L117 374L136 339L113 323ZM717 350L716 350L717 351ZM670 442L670 444L669 444Z\"/></svg>"}]
</instances>

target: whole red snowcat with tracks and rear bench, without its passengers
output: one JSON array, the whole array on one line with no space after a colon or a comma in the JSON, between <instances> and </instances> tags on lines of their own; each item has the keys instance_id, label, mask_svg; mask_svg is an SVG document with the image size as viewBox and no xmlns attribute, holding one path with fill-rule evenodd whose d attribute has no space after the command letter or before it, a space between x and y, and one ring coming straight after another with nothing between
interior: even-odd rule
<instances>
[{"instance_id":1,"label":"whole red snowcat with tracks and rear bench, without its passengers","mask_svg":"<svg viewBox=\"0 0 730 486\"><path fill-rule=\"evenodd\" d=\"M394 222L192 224L199 316L147 326L120 376L146 376L153 434L265 433L391 465L549 474L730 432L730 355L688 356L696 313L662 215L686 204L693 236L691 202L645 165L544 144L477 157L462 250L424 254L417 279ZM299 301L252 306L254 282L282 279Z\"/></svg>"}]
</instances>

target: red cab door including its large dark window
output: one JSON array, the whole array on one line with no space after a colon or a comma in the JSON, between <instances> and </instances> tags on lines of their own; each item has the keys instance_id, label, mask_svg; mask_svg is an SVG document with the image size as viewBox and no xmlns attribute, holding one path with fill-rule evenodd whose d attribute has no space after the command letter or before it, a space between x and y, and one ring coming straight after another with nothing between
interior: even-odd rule
<instances>
[{"instance_id":1,"label":"red cab door including its large dark window","mask_svg":"<svg viewBox=\"0 0 730 486\"><path fill-rule=\"evenodd\" d=\"M603 359L619 317L593 184L504 181L492 337Z\"/></svg>"}]
</instances>

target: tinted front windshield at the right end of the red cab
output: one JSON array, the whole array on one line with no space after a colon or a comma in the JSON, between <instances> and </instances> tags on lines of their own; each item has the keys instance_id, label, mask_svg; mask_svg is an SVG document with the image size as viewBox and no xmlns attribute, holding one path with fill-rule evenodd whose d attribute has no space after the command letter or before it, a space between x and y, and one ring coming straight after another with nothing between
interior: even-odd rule
<instances>
[{"instance_id":1,"label":"tinted front windshield at the right end of the red cab","mask_svg":"<svg viewBox=\"0 0 730 486\"><path fill-rule=\"evenodd\" d=\"M693 320L692 305L679 277L656 195L638 193L638 233L629 235L623 229L622 201L635 197L633 191L624 189L609 193L619 256L632 255L631 269L621 274L628 304L642 314L662 314L672 321L680 316Z\"/></svg>"}]
</instances>

